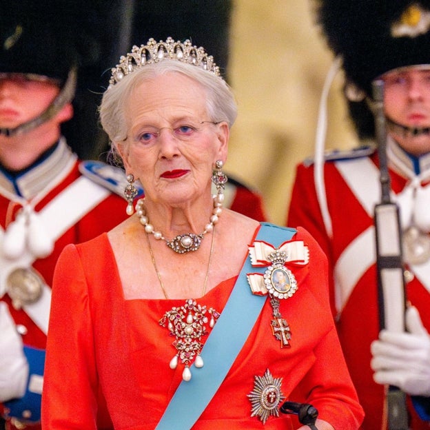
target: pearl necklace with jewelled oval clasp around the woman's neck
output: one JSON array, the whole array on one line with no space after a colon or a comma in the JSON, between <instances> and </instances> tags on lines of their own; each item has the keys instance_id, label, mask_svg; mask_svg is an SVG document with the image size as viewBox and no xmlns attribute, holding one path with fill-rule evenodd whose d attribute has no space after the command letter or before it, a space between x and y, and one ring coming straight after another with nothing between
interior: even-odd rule
<instances>
[{"instance_id":1,"label":"pearl necklace with jewelled oval clasp around the woman's neck","mask_svg":"<svg viewBox=\"0 0 430 430\"><path fill-rule=\"evenodd\" d=\"M166 239L163 236L163 233L156 232L154 225L150 224L150 219L148 218L145 207L143 206L145 203L144 198L139 198L136 203L136 215L139 217L141 224L145 227L145 232L153 234L156 240L165 240L166 245L173 249L174 252L177 252L178 254L184 254L185 252L196 251L200 247L203 236L207 232L212 232L214 225L218 223L221 212L223 212L223 201L223 193L218 193L214 196L214 209L209 220L210 222L205 225L205 229L203 232L201 232L201 234L178 234L178 236L174 237L172 240Z\"/></svg>"}]
</instances>

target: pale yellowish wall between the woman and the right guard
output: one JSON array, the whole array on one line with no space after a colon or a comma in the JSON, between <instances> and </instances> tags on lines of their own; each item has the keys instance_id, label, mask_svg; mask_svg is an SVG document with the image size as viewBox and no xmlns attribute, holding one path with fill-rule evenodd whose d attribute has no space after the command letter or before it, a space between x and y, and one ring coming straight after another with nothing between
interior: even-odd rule
<instances>
[{"instance_id":1,"label":"pale yellowish wall between the woman and the right guard","mask_svg":"<svg viewBox=\"0 0 430 430\"><path fill-rule=\"evenodd\" d=\"M269 221L285 223L296 163L314 152L318 103L332 56L311 0L236 0L229 79L239 115L226 170L265 198ZM358 143L340 96L329 95L327 148Z\"/></svg>"}]
</instances>

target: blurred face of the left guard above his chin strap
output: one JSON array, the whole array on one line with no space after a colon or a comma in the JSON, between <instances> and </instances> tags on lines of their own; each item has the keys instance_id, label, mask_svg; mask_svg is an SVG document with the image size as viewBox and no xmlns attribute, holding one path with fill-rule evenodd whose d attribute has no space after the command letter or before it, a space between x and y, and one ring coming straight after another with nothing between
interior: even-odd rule
<instances>
[{"instance_id":1,"label":"blurred face of the left guard above his chin strap","mask_svg":"<svg viewBox=\"0 0 430 430\"><path fill-rule=\"evenodd\" d=\"M14 128L39 116L58 92L58 85L48 79L0 74L0 127Z\"/></svg>"}]
</instances>

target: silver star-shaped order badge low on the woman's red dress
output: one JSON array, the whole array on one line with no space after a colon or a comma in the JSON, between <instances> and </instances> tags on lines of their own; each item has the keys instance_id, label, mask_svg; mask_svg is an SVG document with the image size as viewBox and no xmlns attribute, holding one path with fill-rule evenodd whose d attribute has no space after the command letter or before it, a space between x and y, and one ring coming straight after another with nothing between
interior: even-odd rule
<instances>
[{"instance_id":1,"label":"silver star-shaped order badge low on the woman's red dress","mask_svg":"<svg viewBox=\"0 0 430 430\"><path fill-rule=\"evenodd\" d=\"M285 396L280 391L282 378L274 378L269 369L263 376L254 376L254 389L247 394L252 405L251 416L258 416L265 424L269 416L279 416L280 402Z\"/></svg>"}]
</instances>

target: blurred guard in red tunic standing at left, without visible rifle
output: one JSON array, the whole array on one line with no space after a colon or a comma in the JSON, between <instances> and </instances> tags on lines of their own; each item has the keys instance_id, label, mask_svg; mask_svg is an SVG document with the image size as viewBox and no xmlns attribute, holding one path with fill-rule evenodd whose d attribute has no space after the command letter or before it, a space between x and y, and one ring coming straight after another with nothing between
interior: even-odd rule
<instances>
[{"instance_id":1,"label":"blurred guard in red tunic standing at left, without visible rifle","mask_svg":"<svg viewBox=\"0 0 430 430\"><path fill-rule=\"evenodd\" d=\"M116 194L123 171L80 161L61 136L79 56L59 8L11 1L0 14L0 428L8 430L40 428L59 253L127 216Z\"/></svg>"}]
</instances>

